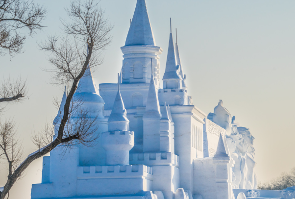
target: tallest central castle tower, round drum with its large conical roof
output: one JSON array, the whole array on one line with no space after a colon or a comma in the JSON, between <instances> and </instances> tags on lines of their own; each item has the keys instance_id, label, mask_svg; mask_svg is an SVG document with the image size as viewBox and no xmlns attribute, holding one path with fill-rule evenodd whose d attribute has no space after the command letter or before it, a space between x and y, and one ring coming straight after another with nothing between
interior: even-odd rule
<instances>
[{"instance_id":1,"label":"tallest central castle tower, round drum with its large conical roof","mask_svg":"<svg viewBox=\"0 0 295 199\"><path fill-rule=\"evenodd\" d=\"M135 12L128 31L123 52L123 83L149 83L151 60L153 62L154 81L160 83L160 63L158 55L162 49L156 46L153 31L148 18L145 0L137 0Z\"/></svg>"}]
</instances>

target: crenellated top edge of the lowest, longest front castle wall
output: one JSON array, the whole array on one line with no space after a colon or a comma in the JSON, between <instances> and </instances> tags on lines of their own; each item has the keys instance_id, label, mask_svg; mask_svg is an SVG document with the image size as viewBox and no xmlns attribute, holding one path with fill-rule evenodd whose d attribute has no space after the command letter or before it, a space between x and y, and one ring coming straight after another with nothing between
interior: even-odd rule
<instances>
[{"instance_id":1,"label":"crenellated top edge of the lowest, longest front castle wall","mask_svg":"<svg viewBox=\"0 0 295 199\"><path fill-rule=\"evenodd\" d=\"M78 179L147 178L152 180L152 168L146 165L90 166L77 168Z\"/></svg>"}]
</instances>

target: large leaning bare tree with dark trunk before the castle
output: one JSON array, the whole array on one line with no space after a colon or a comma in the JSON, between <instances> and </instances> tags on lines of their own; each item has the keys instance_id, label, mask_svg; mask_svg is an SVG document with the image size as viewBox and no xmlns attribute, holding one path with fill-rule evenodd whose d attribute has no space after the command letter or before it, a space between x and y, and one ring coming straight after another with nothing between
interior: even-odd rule
<instances>
[{"instance_id":1,"label":"large leaning bare tree with dark trunk before the castle","mask_svg":"<svg viewBox=\"0 0 295 199\"><path fill-rule=\"evenodd\" d=\"M0 192L0 199L5 198L13 184L34 160L58 145L85 144L95 139L93 132L96 130L96 118L89 118L88 110L81 109L77 105L81 100L73 97L78 82L87 68L101 64L102 52L111 42L110 31L113 26L109 25L108 20L104 18L104 11L94 0L73 0L66 12L71 21L62 21L64 34L61 37L50 36L46 42L39 44L41 50L49 52L52 69L47 71L51 72L54 83L71 84L65 105L60 107L63 114L58 124L58 133L54 136L55 139L50 140L53 127L47 125L43 134L34 139L40 149L30 154L12 174L8 175L7 182ZM71 119L73 114L75 123Z\"/></svg>"}]
</instances>

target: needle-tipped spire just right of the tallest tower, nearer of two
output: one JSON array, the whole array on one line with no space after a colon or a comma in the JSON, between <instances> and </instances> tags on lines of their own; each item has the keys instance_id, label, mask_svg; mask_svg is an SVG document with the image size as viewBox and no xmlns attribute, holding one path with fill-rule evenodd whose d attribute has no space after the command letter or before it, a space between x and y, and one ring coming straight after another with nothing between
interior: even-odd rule
<instances>
[{"instance_id":1,"label":"needle-tipped spire just right of the tallest tower, nearer of two","mask_svg":"<svg viewBox=\"0 0 295 199\"><path fill-rule=\"evenodd\" d=\"M171 20L171 18L170 18L170 20ZM170 27L170 30L172 30L171 28L172 27ZM165 73L163 76L163 80L164 79L181 79L180 75L178 75L176 71L177 71L177 68L176 68L173 36L172 36L172 32L170 32L166 69L165 69Z\"/></svg>"}]
</instances>

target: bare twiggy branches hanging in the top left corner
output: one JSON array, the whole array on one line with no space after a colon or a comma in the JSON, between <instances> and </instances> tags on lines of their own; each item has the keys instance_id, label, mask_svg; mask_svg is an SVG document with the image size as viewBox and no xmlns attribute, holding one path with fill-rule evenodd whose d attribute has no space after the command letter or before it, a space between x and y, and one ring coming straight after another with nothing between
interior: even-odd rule
<instances>
[{"instance_id":1,"label":"bare twiggy branches hanging in the top left corner","mask_svg":"<svg viewBox=\"0 0 295 199\"><path fill-rule=\"evenodd\" d=\"M21 53L26 35L33 36L44 27L46 13L33 0L0 0L0 55Z\"/></svg>"}]
</instances>

